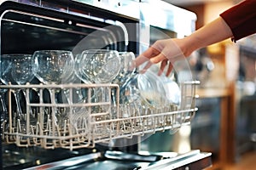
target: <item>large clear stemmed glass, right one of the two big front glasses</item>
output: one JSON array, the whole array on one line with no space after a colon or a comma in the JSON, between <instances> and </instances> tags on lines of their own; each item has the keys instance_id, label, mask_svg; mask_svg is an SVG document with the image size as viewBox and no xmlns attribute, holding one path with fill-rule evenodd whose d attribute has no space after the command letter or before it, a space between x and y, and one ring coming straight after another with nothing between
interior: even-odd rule
<instances>
[{"instance_id":1,"label":"large clear stemmed glass, right one of the two big front glasses","mask_svg":"<svg viewBox=\"0 0 256 170\"><path fill-rule=\"evenodd\" d=\"M76 74L84 83L112 83L120 71L119 52L108 49L89 49L82 52L76 58ZM111 90L111 91L110 91ZM89 102L97 103L91 111L94 113L110 112L110 105L102 105L101 103L111 102L113 105L114 94L113 89L108 87L96 87L92 91ZM87 97L87 98L88 98ZM113 116L113 114L111 114ZM98 116L96 120L103 120L108 116Z\"/></svg>"}]
</instances>

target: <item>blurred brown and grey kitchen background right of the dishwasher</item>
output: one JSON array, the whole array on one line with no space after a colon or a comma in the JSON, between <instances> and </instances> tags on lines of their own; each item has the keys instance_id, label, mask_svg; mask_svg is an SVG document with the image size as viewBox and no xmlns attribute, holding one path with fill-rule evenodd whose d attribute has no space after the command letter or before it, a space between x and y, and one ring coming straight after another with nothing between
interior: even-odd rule
<instances>
[{"instance_id":1,"label":"blurred brown and grey kitchen background right of the dishwasher","mask_svg":"<svg viewBox=\"0 0 256 170\"><path fill-rule=\"evenodd\" d=\"M239 0L165 0L196 14L195 29L218 17ZM190 57L197 89L197 112L190 147L212 152L212 169L256 166L256 35L233 43L218 42ZM180 138L182 129L180 131ZM176 134L178 135L178 134ZM180 143L179 143L180 144Z\"/></svg>"}]
</instances>

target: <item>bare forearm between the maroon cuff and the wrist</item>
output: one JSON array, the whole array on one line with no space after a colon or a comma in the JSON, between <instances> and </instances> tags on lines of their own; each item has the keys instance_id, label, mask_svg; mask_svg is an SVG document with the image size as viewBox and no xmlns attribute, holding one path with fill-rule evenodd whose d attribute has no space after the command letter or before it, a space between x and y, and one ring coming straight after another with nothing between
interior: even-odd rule
<instances>
[{"instance_id":1,"label":"bare forearm between the maroon cuff and the wrist","mask_svg":"<svg viewBox=\"0 0 256 170\"><path fill-rule=\"evenodd\" d=\"M185 56L189 56L196 49L207 47L229 37L233 37L230 27L221 17L218 17L188 37L184 37L180 48Z\"/></svg>"}]
</instances>

